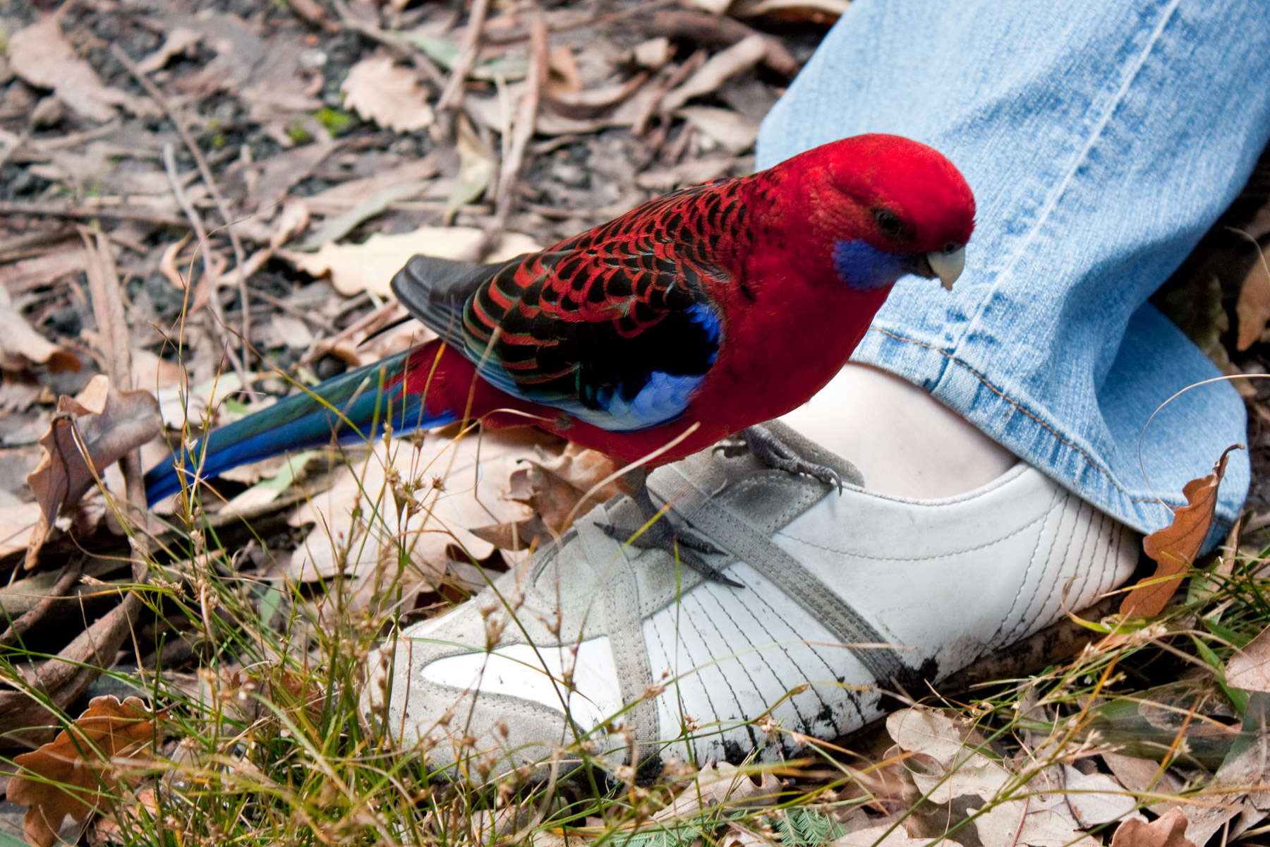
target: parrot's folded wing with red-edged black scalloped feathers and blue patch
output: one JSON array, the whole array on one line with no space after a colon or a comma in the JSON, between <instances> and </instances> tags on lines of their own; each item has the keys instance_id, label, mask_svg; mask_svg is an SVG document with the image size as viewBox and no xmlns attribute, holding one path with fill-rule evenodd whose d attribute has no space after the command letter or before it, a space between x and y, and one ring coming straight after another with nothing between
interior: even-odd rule
<instances>
[{"instance_id":1,"label":"parrot's folded wing with red-edged black scalloped feathers and blue patch","mask_svg":"<svg viewBox=\"0 0 1270 847\"><path fill-rule=\"evenodd\" d=\"M707 278L724 270L710 239L686 237L701 216L685 207L706 190L652 201L502 264L415 257L394 291L504 391L611 430L665 423L721 343Z\"/></svg>"}]
</instances>

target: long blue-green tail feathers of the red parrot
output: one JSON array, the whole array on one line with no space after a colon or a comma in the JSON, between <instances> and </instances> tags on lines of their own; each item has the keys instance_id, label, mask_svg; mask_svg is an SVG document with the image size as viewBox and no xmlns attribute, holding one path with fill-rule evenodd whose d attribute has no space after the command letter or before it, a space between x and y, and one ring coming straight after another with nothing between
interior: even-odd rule
<instances>
[{"instance_id":1,"label":"long blue-green tail feathers of the red parrot","mask_svg":"<svg viewBox=\"0 0 1270 847\"><path fill-rule=\"evenodd\" d=\"M201 479L211 479L246 462L333 439L370 441L382 433L385 423L399 434L451 423L453 415L428 417L420 395L403 395L399 377L406 356L349 371L212 430L146 472L146 500L154 504L179 491L183 475L193 480L197 471Z\"/></svg>"}]
</instances>

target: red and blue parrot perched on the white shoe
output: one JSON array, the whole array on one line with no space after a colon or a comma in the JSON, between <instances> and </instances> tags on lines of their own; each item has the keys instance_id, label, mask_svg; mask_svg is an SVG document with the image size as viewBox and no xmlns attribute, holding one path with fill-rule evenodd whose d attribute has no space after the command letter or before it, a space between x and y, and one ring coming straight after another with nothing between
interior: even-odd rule
<instances>
[{"instance_id":1,"label":"red and blue parrot perched on the white shoe","mask_svg":"<svg viewBox=\"0 0 1270 847\"><path fill-rule=\"evenodd\" d=\"M897 279L951 287L973 227L974 198L947 159L862 135L665 194L541 253L493 264L415 257L392 290L438 339L213 430L146 474L147 495L179 490L196 469L206 479L333 438L364 442L385 425L401 434L467 419L646 460L630 488L650 519L646 469L742 430L768 464L832 480L748 428L823 387ZM710 549L664 524L641 544ZM721 578L685 546L686 564Z\"/></svg>"}]
</instances>

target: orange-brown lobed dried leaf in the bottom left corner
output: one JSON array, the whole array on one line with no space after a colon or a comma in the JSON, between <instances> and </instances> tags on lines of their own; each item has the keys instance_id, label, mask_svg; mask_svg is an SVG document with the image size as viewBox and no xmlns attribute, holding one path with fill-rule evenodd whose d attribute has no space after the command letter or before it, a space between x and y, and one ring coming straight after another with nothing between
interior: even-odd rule
<instances>
[{"instance_id":1,"label":"orange-brown lobed dried leaf in the bottom left corner","mask_svg":"<svg viewBox=\"0 0 1270 847\"><path fill-rule=\"evenodd\" d=\"M123 702L94 697L52 742L15 756L22 772L9 781L9 800L27 806L27 841L50 847L66 815L85 820L109 796L124 767L146 762L144 750L155 739L155 717L138 697Z\"/></svg>"}]
</instances>

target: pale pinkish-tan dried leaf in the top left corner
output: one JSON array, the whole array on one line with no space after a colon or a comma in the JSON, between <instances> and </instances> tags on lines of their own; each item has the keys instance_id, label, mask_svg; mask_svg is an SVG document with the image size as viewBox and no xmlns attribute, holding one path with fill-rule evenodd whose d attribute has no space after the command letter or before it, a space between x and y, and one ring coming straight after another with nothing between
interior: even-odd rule
<instances>
[{"instance_id":1,"label":"pale pinkish-tan dried leaf in the top left corner","mask_svg":"<svg viewBox=\"0 0 1270 847\"><path fill-rule=\"evenodd\" d=\"M154 113L149 100L102 84L97 71L62 38L56 14L13 34L9 65L18 76L37 88L52 89L57 99L93 121L109 121L117 105L135 114Z\"/></svg>"}]
</instances>

